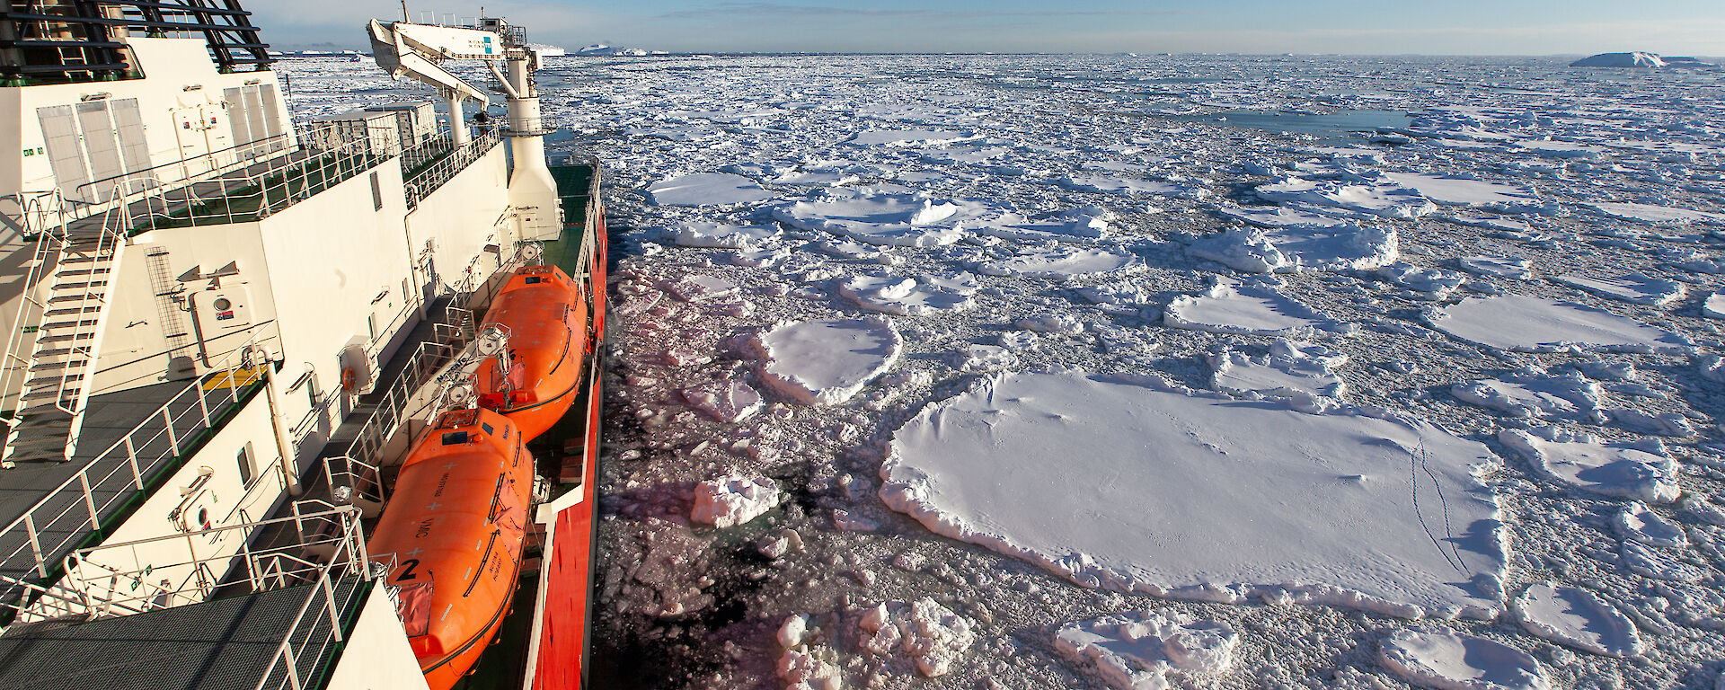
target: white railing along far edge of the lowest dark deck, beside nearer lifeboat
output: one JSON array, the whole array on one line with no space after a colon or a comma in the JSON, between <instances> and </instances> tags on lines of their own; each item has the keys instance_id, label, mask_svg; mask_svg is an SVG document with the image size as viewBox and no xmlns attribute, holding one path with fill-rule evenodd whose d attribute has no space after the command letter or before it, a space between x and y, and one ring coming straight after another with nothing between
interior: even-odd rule
<instances>
[{"instance_id":1,"label":"white railing along far edge of the lowest dark deck, beside nearer lifeboat","mask_svg":"<svg viewBox=\"0 0 1725 690\"><path fill-rule=\"evenodd\" d=\"M255 549L252 535L293 528L297 540ZM233 547L231 543L238 543ZM209 600L221 592L260 593L316 581L329 571L366 574L366 538L354 507L193 530L67 554L55 605L33 614L112 618ZM76 604L72 604L76 602Z\"/></svg>"}]
</instances>

